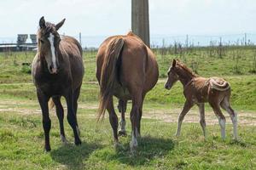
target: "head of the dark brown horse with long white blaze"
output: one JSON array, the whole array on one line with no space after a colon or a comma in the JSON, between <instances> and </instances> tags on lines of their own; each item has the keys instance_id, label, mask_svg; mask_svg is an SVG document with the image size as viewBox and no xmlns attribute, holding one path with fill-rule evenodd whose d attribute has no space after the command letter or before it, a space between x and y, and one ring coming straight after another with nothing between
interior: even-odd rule
<instances>
[{"instance_id":1,"label":"head of the dark brown horse with long white blaze","mask_svg":"<svg viewBox=\"0 0 256 170\"><path fill-rule=\"evenodd\" d=\"M64 20L54 25L45 22L44 16L39 20L38 30L38 52L41 58L44 58L50 74L56 74L59 69L58 53L61 37L57 32L64 24Z\"/></svg>"}]
</instances>

